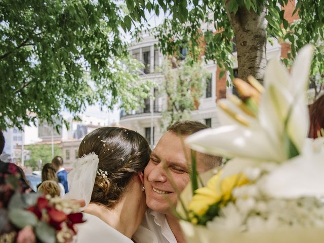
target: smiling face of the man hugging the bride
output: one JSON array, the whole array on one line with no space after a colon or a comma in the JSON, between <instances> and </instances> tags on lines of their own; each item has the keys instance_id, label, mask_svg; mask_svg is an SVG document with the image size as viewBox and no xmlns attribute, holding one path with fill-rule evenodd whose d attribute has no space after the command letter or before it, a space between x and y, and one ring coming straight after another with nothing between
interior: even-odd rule
<instances>
[{"instance_id":1,"label":"smiling face of the man hugging the bride","mask_svg":"<svg viewBox=\"0 0 324 243\"><path fill-rule=\"evenodd\" d=\"M183 139L185 137L167 132L158 141L151 154L150 161L144 170L146 204L151 210L170 213L170 203L176 205L178 201L172 181L180 192L190 181L185 157L186 151L190 159L190 149L183 147ZM204 171L205 169L204 165L197 161L197 170ZM173 178L172 181L169 175Z\"/></svg>"}]
</instances>

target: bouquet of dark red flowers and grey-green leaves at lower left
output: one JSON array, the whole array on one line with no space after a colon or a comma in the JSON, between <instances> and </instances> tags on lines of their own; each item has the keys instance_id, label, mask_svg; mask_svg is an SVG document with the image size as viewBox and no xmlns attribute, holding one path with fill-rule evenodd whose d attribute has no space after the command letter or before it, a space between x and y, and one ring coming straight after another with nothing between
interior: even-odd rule
<instances>
[{"instance_id":1,"label":"bouquet of dark red flowers and grey-green leaves at lower left","mask_svg":"<svg viewBox=\"0 0 324 243\"><path fill-rule=\"evenodd\" d=\"M0 186L0 242L71 242L74 224L83 223L79 205L71 200L21 190L13 164Z\"/></svg>"}]
</instances>

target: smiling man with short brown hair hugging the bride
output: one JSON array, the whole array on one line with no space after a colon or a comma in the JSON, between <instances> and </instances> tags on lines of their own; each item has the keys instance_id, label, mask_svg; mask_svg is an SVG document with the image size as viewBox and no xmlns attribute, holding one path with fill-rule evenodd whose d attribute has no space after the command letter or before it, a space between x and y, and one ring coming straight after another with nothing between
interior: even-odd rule
<instances>
[{"instance_id":1,"label":"smiling man with short brown hair hugging the bride","mask_svg":"<svg viewBox=\"0 0 324 243\"><path fill-rule=\"evenodd\" d=\"M191 155L190 148L184 147L183 140L206 128L206 125L197 121L182 121L169 127L158 141L144 170L146 204L149 209L142 225L153 231L159 243L185 242L179 220L171 210L170 203L176 205L178 196L169 176L179 191L189 183L187 161L190 161ZM197 152L196 162L200 173L219 166L221 158Z\"/></svg>"}]
</instances>

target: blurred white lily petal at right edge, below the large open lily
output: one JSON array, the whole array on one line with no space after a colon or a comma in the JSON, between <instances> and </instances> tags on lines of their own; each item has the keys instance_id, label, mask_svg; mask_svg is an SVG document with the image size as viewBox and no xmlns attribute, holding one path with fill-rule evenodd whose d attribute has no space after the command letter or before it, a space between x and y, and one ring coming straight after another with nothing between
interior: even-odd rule
<instances>
[{"instance_id":1,"label":"blurred white lily petal at right edge, below the large open lily","mask_svg":"<svg viewBox=\"0 0 324 243\"><path fill-rule=\"evenodd\" d=\"M260 181L264 193L277 198L324 196L324 138L307 139L301 155L283 163Z\"/></svg>"}]
</instances>

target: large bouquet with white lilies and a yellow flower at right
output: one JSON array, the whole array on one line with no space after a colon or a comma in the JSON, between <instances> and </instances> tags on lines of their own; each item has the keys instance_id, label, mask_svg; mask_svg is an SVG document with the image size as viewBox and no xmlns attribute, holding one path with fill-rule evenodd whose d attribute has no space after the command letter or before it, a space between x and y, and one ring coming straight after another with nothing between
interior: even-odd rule
<instances>
[{"instance_id":1,"label":"large bouquet with white lilies and a yellow flower at right","mask_svg":"<svg viewBox=\"0 0 324 243\"><path fill-rule=\"evenodd\" d=\"M290 73L271 60L265 87L235 79L241 99L218 106L225 125L186 139L230 158L212 176L192 172L177 206L188 242L323 242L324 139L307 138L311 59L306 46Z\"/></svg>"}]
</instances>

